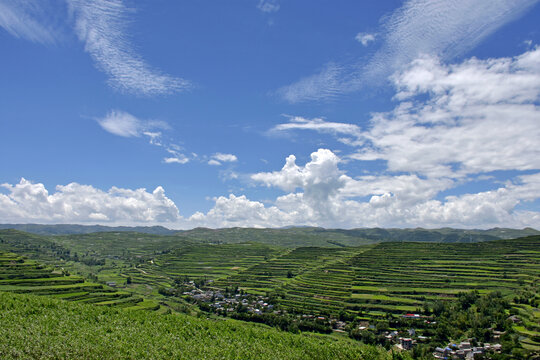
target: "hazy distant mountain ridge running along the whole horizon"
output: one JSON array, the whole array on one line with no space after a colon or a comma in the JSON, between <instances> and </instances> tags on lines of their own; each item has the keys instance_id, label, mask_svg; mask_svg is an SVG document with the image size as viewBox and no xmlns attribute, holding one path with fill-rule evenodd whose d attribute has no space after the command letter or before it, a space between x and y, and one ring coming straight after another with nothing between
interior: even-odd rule
<instances>
[{"instance_id":1,"label":"hazy distant mountain ridge running along the whole horizon","mask_svg":"<svg viewBox=\"0 0 540 360\"><path fill-rule=\"evenodd\" d=\"M136 232L152 235L174 235L179 238L202 240L215 243L261 242L280 246L357 246L382 241L420 242L478 242L499 239L513 239L540 235L532 228L488 230L440 229L324 229L319 227L287 227L280 229L255 228L195 228L191 230L171 230L163 226L103 226L76 224L0 224L0 229L15 229L37 235L76 235L96 232Z\"/></svg>"}]
</instances>

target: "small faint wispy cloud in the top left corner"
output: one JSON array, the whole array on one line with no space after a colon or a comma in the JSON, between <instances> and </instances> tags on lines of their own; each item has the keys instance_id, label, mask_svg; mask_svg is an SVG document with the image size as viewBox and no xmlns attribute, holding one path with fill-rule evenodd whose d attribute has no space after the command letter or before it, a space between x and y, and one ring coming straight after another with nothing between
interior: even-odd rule
<instances>
[{"instance_id":1,"label":"small faint wispy cloud in the top left corner","mask_svg":"<svg viewBox=\"0 0 540 360\"><path fill-rule=\"evenodd\" d=\"M0 0L0 27L17 38L52 44L58 33L51 6L49 1Z\"/></svg>"}]
</instances>

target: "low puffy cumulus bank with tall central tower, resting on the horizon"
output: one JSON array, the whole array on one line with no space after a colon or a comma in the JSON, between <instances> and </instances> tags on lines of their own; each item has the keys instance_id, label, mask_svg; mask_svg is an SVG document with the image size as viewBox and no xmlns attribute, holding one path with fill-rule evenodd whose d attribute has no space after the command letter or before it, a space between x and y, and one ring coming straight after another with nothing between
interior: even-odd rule
<instances>
[{"instance_id":1,"label":"low puffy cumulus bank with tall central tower, resting on the horizon","mask_svg":"<svg viewBox=\"0 0 540 360\"><path fill-rule=\"evenodd\" d=\"M338 164L339 158L324 149L313 153L305 166L296 165L291 155L280 171L252 176L287 192L273 205L245 196L219 197L208 213L191 216L187 226L540 226L540 213L516 210L519 204L540 197L540 173L517 177L498 189L448 196L441 201L433 197L452 186L449 179L414 175L352 179ZM368 200L357 199L366 195Z\"/></svg>"}]
</instances>

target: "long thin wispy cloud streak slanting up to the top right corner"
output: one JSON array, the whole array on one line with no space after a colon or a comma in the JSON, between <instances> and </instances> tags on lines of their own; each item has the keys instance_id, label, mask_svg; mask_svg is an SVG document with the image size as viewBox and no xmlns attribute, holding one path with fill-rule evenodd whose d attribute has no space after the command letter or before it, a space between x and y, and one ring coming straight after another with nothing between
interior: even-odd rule
<instances>
[{"instance_id":1,"label":"long thin wispy cloud streak slanting up to the top right corner","mask_svg":"<svg viewBox=\"0 0 540 360\"><path fill-rule=\"evenodd\" d=\"M336 64L278 90L285 100L329 100L375 85L422 55L443 61L474 48L539 0L409 0L382 22L381 48L367 63ZM360 38L360 41L362 37ZM369 43L366 38L366 44Z\"/></svg>"}]
</instances>

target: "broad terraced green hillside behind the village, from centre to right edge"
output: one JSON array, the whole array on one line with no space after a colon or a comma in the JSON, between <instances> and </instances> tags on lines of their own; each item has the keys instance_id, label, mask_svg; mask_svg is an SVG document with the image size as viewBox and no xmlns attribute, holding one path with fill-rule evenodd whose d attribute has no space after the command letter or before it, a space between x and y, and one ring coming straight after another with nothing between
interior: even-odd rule
<instances>
[{"instance_id":1,"label":"broad terraced green hillside behind the village, from centre to right edge","mask_svg":"<svg viewBox=\"0 0 540 360\"><path fill-rule=\"evenodd\" d=\"M540 285L540 237L472 244L381 243L363 248L297 248L223 278L216 286L273 292L300 313L347 311L365 320L431 309L461 292L513 294ZM536 302L537 304L538 302ZM537 349L538 307L513 304L522 341Z\"/></svg>"}]
</instances>

